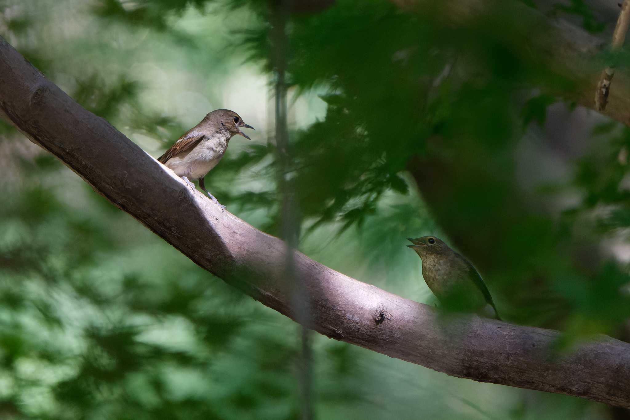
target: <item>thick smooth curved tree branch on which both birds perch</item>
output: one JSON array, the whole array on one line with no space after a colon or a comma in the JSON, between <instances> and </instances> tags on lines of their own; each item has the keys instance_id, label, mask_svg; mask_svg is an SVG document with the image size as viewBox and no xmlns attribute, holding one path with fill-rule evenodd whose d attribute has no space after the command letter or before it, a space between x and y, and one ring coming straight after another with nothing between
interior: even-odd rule
<instances>
[{"instance_id":1,"label":"thick smooth curved tree branch on which both birds perch","mask_svg":"<svg viewBox=\"0 0 630 420\"><path fill-rule=\"evenodd\" d=\"M221 212L205 195L102 118L77 105L0 38L0 109L33 142L188 258L296 319L285 244ZM427 305L354 280L301 253L295 273L311 312L304 324L438 372L630 408L630 344L600 336L554 353L559 332L475 315L445 319Z\"/></svg>"}]
</instances>

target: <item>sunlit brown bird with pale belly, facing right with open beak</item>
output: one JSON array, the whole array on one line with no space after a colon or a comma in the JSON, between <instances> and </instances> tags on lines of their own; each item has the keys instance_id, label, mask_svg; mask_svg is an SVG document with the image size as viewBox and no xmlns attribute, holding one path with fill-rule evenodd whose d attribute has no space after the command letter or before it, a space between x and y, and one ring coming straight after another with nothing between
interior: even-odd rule
<instances>
[{"instance_id":1,"label":"sunlit brown bird with pale belly, facing right with open beak","mask_svg":"<svg viewBox=\"0 0 630 420\"><path fill-rule=\"evenodd\" d=\"M232 136L240 134L251 140L240 130L240 127L254 129L234 111L214 110L181 136L157 160L173 169L173 172L177 176L181 176L193 190L195 184L190 181L198 179L201 189L210 196L212 201L224 209L226 207L219 204L219 201L210 194L210 191L205 189L203 177L221 161Z\"/></svg>"}]
</instances>

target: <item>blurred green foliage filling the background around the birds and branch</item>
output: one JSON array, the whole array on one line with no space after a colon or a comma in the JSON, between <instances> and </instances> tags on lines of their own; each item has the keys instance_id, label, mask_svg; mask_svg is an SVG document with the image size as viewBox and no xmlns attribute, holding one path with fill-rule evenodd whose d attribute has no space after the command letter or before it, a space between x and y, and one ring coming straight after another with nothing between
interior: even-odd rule
<instances>
[{"instance_id":1,"label":"blurred green foliage filling the background around the birds and branch","mask_svg":"<svg viewBox=\"0 0 630 420\"><path fill-rule=\"evenodd\" d=\"M575 107L539 88L576 86L519 49L519 22L500 10L456 28L435 9L387 1L291 16L286 176L301 250L432 303L404 238L435 234L477 266L508 321L563 329L565 349L593 333L624 338L630 130L569 121L561 111ZM604 29L583 1L554 13ZM0 33L33 65L153 156L208 111L239 112L256 137L234 140L207 186L277 234L266 3L4 0L0 15ZM6 123L0 136L0 417L300 418L297 326ZM320 336L313 351L319 418L609 416Z\"/></svg>"}]
</instances>

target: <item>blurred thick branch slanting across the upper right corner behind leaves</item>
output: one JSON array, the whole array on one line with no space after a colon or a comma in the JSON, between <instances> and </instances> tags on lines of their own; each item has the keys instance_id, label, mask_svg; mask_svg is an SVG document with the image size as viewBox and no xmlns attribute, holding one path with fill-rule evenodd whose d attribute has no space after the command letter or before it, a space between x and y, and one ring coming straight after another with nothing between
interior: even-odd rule
<instances>
[{"instance_id":1,"label":"blurred thick branch slanting across the upper right corner behind leaves","mask_svg":"<svg viewBox=\"0 0 630 420\"><path fill-rule=\"evenodd\" d=\"M453 0L435 3L426 0L391 0L403 9L438 16L447 28L461 29L479 21L501 16L510 28L503 28L510 50L527 61L545 63L547 70L563 76L539 88L549 94L595 108L595 91L604 62L605 43L588 30L565 20L551 19L525 2L497 0ZM523 42L527 40L527 42ZM626 57L626 55L624 55ZM613 91L604 115L630 125L630 76L617 77L619 91Z\"/></svg>"}]
</instances>

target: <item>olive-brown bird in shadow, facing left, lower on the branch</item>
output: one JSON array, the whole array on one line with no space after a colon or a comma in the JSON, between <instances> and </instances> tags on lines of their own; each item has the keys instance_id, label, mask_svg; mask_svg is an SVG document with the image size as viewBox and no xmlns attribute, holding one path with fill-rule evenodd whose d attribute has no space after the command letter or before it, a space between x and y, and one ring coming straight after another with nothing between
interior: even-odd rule
<instances>
[{"instance_id":1,"label":"olive-brown bird in shadow, facing left, lower on the branch","mask_svg":"<svg viewBox=\"0 0 630 420\"><path fill-rule=\"evenodd\" d=\"M473 264L435 236L407 238L422 259L422 276L446 309L476 312L490 305L501 319L486 284Z\"/></svg>"}]
</instances>

